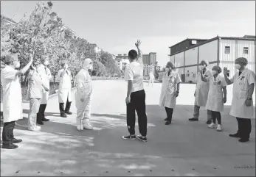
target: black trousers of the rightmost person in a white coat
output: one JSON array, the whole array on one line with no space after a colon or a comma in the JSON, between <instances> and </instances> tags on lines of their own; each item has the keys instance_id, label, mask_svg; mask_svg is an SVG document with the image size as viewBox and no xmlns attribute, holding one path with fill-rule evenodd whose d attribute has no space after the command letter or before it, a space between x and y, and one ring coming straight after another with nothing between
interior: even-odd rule
<instances>
[{"instance_id":1,"label":"black trousers of the rightmost person in a white coat","mask_svg":"<svg viewBox=\"0 0 256 177\"><path fill-rule=\"evenodd\" d=\"M252 131L251 119L236 118L238 120L238 135L241 139L249 139Z\"/></svg>"}]
</instances>

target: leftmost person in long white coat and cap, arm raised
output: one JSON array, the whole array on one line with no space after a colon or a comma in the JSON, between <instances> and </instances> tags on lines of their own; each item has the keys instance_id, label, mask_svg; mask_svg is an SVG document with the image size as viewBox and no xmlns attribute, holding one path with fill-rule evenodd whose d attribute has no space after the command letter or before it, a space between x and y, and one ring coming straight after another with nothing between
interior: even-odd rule
<instances>
[{"instance_id":1,"label":"leftmost person in long white coat and cap, arm raised","mask_svg":"<svg viewBox=\"0 0 256 177\"><path fill-rule=\"evenodd\" d=\"M18 76L27 72L32 64L32 57L30 54L30 61L20 71L15 68L20 68L20 61L17 54L9 54L5 57L5 68L1 70L1 84L3 86L3 115L4 126L2 131L2 148L14 149L18 148L18 145L13 143L21 142L22 140L15 139L13 135L13 129L15 127L16 120L21 118L21 84Z\"/></svg>"}]
</instances>

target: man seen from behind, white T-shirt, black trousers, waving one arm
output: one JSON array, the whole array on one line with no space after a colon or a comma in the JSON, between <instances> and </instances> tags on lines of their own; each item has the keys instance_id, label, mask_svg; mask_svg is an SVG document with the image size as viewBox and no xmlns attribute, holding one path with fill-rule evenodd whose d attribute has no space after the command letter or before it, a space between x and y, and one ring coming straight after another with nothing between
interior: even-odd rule
<instances>
[{"instance_id":1,"label":"man seen from behind, white T-shirt, black trousers, waving one arm","mask_svg":"<svg viewBox=\"0 0 256 177\"><path fill-rule=\"evenodd\" d=\"M142 51L140 49L141 41L137 40L135 43L138 53L135 50L131 50L128 53L128 59L130 64L125 68L125 81L128 82L127 96L125 98L126 114L127 114L127 126L130 134L122 136L124 140L141 140L147 142L147 115L145 105L145 90L143 87L143 61ZM139 133L135 135L135 122L138 115Z\"/></svg>"}]
</instances>

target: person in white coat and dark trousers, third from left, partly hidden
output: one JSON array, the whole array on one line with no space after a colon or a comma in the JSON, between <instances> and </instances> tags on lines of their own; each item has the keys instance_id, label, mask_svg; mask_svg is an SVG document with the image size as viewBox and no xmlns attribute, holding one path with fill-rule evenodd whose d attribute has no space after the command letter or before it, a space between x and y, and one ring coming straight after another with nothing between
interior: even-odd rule
<instances>
[{"instance_id":1,"label":"person in white coat and dark trousers, third from left, partly hidden","mask_svg":"<svg viewBox=\"0 0 256 177\"><path fill-rule=\"evenodd\" d=\"M47 68L47 65L49 65L49 57L44 55L41 57L41 65L38 65L37 71L39 75L42 77L43 82L47 84L46 86L49 88L49 81L50 79L52 79L52 74L51 74L51 71L49 71L49 68ZM49 91L46 91L42 88L41 104L37 114L37 123L39 125L44 125L43 121L49 121L49 119L46 119L44 115L44 112L47 106L48 97L49 97Z\"/></svg>"}]
</instances>

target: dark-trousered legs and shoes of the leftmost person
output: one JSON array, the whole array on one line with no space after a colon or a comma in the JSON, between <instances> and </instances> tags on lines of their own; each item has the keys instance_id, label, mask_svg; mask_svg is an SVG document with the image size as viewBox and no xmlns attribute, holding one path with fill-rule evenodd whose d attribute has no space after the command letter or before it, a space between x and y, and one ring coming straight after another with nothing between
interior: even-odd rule
<instances>
[{"instance_id":1,"label":"dark-trousered legs and shoes of the leftmost person","mask_svg":"<svg viewBox=\"0 0 256 177\"><path fill-rule=\"evenodd\" d=\"M2 140L3 145L2 148L13 149L18 148L18 145L13 145L13 129L15 127L15 121L4 123L3 131L2 131Z\"/></svg>"}]
</instances>

